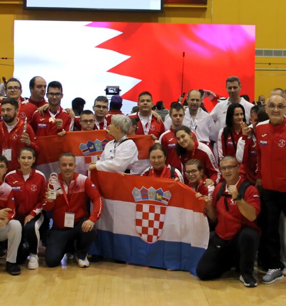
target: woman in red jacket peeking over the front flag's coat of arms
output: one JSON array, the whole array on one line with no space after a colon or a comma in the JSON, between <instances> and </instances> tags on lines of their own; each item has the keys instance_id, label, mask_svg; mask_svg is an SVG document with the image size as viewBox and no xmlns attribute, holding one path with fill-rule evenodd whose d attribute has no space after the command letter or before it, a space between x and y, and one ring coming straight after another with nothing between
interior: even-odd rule
<instances>
[{"instance_id":1,"label":"woman in red jacket peeking over the front flag's coat of arms","mask_svg":"<svg viewBox=\"0 0 286 306\"><path fill-rule=\"evenodd\" d=\"M173 169L174 177L172 177L171 166L166 164L166 149L160 143L155 143L150 147L149 158L151 167L148 167L142 176L164 177L184 183L182 174L176 168Z\"/></svg>"}]
</instances>

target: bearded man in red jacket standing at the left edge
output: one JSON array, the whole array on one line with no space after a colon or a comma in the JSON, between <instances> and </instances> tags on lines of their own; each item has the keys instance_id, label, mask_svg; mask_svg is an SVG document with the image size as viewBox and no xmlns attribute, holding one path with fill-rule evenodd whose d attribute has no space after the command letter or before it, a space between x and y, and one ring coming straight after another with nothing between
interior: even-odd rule
<instances>
[{"instance_id":1,"label":"bearded man in red jacket standing at the left edge","mask_svg":"<svg viewBox=\"0 0 286 306\"><path fill-rule=\"evenodd\" d=\"M27 124L26 133L23 133L25 123L17 118L18 112L18 102L15 99L7 98L2 101L3 121L0 122L0 153L9 161L8 172L19 167L18 152L20 148L29 146L36 152L36 155L40 150L35 142L36 136L29 124Z\"/></svg>"}]
</instances>

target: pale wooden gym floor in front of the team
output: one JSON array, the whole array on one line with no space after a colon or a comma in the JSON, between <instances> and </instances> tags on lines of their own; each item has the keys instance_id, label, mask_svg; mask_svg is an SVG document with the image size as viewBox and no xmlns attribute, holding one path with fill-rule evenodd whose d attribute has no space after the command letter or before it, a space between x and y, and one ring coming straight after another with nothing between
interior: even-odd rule
<instances>
[{"instance_id":1,"label":"pale wooden gym floor in front of the team","mask_svg":"<svg viewBox=\"0 0 286 306\"><path fill-rule=\"evenodd\" d=\"M228 272L218 281L201 282L188 272L166 271L103 261L79 268L74 261L21 275L5 272L0 260L0 305L98 305L98 306L236 306L286 305L286 277L271 285L260 283L262 271L255 270L258 286L245 288L239 275Z\"/></svg>"}]
</instances>

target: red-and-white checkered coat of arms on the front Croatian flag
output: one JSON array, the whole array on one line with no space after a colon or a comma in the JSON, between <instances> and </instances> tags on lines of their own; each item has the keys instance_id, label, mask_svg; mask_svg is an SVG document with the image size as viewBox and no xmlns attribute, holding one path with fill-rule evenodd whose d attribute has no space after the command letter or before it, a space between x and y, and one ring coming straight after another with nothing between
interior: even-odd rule
<instances>
[{"instance_id":1,"label":"red-and-white checkered coat of arms on the front Croatian flag","mask_svg":"<svg viewBox=\"0 0 286 306\"><path fill-rule=\"evenodd\" d=\"M161 188L134 188L132 195L136 202L135 229L142 240L156 242L163 233L165 215L171 199L170 191Z\"/></svg>"}]
</instances>

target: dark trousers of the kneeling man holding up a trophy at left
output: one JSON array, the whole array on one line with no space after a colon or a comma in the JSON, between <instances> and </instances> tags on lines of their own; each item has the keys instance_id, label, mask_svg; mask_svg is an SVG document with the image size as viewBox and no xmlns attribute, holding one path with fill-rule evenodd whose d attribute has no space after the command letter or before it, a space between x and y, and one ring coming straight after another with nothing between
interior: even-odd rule
<instances>
[{"instance_id":1,"label":"dark trousers of the kneeling man holding up a trophy at left","mask_svg":"<svg viewBox=\"0 0 286 306\"><path fill-rule=\"evenodd\" d=\"M81 229L85 219L75 224L74 228L51 229L47 235L45 262L49 267L56 267L67 252L70 245L76 241L76 256L85 259L90 244L96 238L96 228L84 233Z\"/></svg>"}]
</instances>

